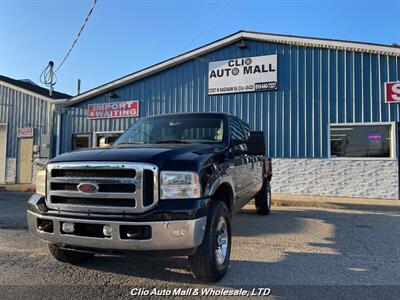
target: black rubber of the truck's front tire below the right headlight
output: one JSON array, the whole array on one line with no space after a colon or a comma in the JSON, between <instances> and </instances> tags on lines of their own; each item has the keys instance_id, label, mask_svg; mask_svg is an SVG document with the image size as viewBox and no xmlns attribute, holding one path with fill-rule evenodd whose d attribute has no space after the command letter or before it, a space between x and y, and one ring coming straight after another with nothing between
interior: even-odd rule
<instances>
[{"instance_id":1,"label":"black rubber of the truck's front tire below the right headlight","mask_svg":"<svg viewBox=\"0 0 400 300\"><path fill-rule=\"evenodd\" d=\"M221 218L226 222L227 247L223 263L217 262L217 242L219 241L218 227ZM222 232L222 231L221 231ZM231 254L231 222L230 213L226 204L222 201L213 201L207 216L207 225L203 243L197 248L196 253L189 256L189 266L194 278L216 282L219 281L228 270Z\"/></svg>"}]
</instances>

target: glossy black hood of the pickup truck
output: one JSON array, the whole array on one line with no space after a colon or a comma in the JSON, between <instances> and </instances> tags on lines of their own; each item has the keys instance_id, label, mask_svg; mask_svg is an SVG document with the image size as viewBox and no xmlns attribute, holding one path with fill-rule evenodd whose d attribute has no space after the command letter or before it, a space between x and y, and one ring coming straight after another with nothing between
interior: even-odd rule
<instances>
[{"instance_id":1,"label":"glossy black hood of the pickup truck","mask_svg":"<svg viewBox=\"0 0 400 300\"><path fill-rule=\"evenodd\" d=\"M160 169L197 171L216 152L219 152L217 148L205 144L114 146L68 152L55 157L50 163L145 162L155 164Z\"/></svg>"}]
</instances>

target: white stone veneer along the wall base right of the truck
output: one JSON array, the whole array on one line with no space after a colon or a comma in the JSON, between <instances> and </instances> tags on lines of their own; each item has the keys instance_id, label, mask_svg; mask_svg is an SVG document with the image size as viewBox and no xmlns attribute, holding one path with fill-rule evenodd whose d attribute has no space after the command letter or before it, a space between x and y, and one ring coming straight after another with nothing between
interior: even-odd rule
<instances>
[{"instance_id":1,"label":"white stone veneer along the wall base right of the truck","mask_svg":"<svg viewBox=\"0 0 400 300\"><path fill-rule=\"evenodd\" d=\"M397 160L272 159L272 193L399 199Z\"/></svg>"}]
</instances>

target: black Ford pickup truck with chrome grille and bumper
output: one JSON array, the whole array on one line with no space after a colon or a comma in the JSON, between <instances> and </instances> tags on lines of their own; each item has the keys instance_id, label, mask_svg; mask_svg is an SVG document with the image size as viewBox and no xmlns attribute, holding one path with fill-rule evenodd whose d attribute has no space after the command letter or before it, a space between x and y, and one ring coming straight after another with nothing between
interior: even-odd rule
<instances>
[{"instance_id":1,"label":"black Ford pickup truck with chrome grille and bumper","mask_svg":"<svg viewBox=\"0 0 400 300\"><path fill-rule=\"evenodd\" d=\"M251 199L271 210L262 132L223 113L142 118L107 148L60 155L37 174L30 231L59 261L101 251L188 256L195 278L218 281L231 219Z\"/></svg>"}]
</instances>

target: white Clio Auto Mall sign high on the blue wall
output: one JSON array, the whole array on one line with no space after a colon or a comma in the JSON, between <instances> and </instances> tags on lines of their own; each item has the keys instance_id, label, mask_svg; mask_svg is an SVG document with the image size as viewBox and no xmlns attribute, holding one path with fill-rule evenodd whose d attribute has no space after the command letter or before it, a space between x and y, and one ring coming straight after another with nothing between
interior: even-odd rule
<instances>
[{"instance_id":1,"label":"white Clio Auto Mall sign high on the blue wall","mask_svg":"<svg viewBox=\"0 0 400 300\"><path fill-rule=\"evenodd\" d=\"M244 57L208 64L208 94L276 90L277 55Z\"/></svg>"}]
</instances>

